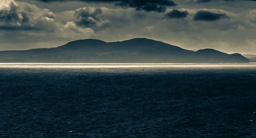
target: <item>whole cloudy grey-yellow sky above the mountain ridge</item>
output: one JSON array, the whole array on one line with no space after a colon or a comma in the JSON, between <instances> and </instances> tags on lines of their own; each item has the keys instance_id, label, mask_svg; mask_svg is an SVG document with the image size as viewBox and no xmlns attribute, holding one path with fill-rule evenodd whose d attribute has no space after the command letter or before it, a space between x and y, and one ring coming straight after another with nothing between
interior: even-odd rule
<instances>
[{"instance_id":1,"label":"whole cloudy grey-yellow sky above the mountain ridge","mask_svg":"<svg viewBox=\"0 0 256 138\"><path fill-rule=\"evenodd\" d=\"M256 54L256 0L1 0L0 50L148 38Z\"/></svg>"}]
</instances>

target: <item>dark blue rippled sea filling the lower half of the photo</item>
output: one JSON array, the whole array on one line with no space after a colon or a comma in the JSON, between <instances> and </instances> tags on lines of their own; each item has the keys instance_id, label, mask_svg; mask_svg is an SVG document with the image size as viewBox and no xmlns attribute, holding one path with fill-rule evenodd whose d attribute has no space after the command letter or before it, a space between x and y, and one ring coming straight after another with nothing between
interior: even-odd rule
<instances>
[{"instance_id":1,"label":"dark blue rippled sea filling the lower half of the photo","mask_svg":"<svg viewBox=\"0 0 256 138\"><path fill-rule=\"evenodd\" d=\"M0 137L256 137L256 67L1 67Z\"/></svg>"}]
</instances>

